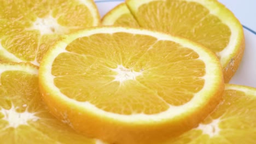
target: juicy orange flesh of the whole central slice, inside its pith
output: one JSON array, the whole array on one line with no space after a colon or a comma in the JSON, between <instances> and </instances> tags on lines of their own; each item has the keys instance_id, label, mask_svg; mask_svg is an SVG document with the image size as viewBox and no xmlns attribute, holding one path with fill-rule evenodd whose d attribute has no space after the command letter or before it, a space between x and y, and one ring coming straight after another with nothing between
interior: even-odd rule
<instances>
[{"instance_id":1,"label":"juicy orange flesh of the whole central slice, inside its pith","mask_svg":"<svg viewBox=\"0 0 256 144\"><path fill-rule=\"evenodd\" d=\"M149 35L94 34L74 40L66 50L53 63L55 85L67 97L104 111L160 113L188 103L204 85L205 63L196 52ZM140 75L115 80L118 65Z\"/></svg>"}]
</instances>

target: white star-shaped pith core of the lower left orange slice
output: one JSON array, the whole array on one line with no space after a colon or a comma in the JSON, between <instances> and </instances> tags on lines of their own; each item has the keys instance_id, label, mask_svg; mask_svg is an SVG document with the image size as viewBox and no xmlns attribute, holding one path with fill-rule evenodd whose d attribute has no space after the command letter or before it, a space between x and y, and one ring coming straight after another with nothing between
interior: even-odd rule
<instances>
[{"instance_id":1,"label":"white star-shaped pith core of the lower left orange slice","mask_svg":"<svg viewBox=\"0 0 256 144\"><path fill-rule=\"evenodd\" d=\"M22 107L26 107L27 105L22 105ZM3 120L7 121L9 124L5 128L17 128L20 125L28 125L28 121L36 122L39 117L34 116L35 113L30 113L28 111L24 112L16 112L16 108L14 106L11 106L9 110L1 109L0 113L3 114Z\"/></svg>"}]
</instances>

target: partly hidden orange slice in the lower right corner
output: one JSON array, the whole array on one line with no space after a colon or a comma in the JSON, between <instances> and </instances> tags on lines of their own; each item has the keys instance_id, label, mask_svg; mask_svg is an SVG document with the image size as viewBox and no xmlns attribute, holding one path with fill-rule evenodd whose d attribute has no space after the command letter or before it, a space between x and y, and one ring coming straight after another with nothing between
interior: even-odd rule
<instances>
[{"instance_id":1,"label":"partly hidden orange slice in the lower right corner","mask_svg":"<svg viewBox=\"0 0 256 144\"><path fill-rule=\"evenodd\" d=\"M223 99L199 127L165 143L255 143L256 88L227 84Z\"/></svg>"}]
</instances>

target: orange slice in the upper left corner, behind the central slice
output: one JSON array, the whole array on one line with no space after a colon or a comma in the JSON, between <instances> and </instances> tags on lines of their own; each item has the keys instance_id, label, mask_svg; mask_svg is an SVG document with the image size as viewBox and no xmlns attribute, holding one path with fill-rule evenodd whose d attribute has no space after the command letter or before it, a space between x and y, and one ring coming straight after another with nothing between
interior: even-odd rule
<instances>
[{"instance_id":1,"label":"orange slice in the upper left corner, behind the central slice","mask_svg":"<svg viewBox=\"0 0 256 144\"><path fill-rule=\"evenodd\" d=\"M100 25L92 0L0 0L0 60L39 65L61 35Z\"/></svg>"}]
</instances>

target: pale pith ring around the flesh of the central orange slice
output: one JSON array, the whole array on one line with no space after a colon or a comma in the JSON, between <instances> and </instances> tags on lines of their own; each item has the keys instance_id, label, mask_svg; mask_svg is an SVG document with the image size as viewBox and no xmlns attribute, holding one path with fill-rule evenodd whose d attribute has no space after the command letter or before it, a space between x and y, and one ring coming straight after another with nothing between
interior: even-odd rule
<instances>
[{"instance_id":1,"label":"pale pith ring around the flesh of the central orange slice","mask_svg":"<svg viewBox=\"0 0 256 144\"><path fill-rule=\"evenodd\" d=\"M117 113L112 112L106 112L101 109L98 109L96 106L88 103L88 102L79 102L74 99L70 99L66 97L66 95L62 94L54 85L54 76L51 75L51 65L54 62L54 59L65 50L66 46L71 43L73 40L80 38L80 37L86 37L92 34L96 33L115 33L115 32L127 32L132 34L146 34L146 35L152 35L153 37L158 38L158 40L171 40L175 41L177 43L183 44L184 47L190 47L191 49L195 50L197 53L199 53L200 58L204 62L210 62L206 64L206 75L202 77L202 79L205 79L205 85L204 88L196 93L187 104L181 105L181 106L170 106L170 109L163 111L158 114L154 115L146 115L144 113L138 113L130 115L120 115ZM49 57L50 56L50 57ZM214 62L213 62L214 61ZM176 116L180 115L187 115L188 113L191 113L195 111L199 106L205 103L205 100L208 100L210 97L208 97L207 93L213 93L215 92L215 88L213 86L218 86L220 76L215 75L212 73L212 71L222 71L220 68L220 65L217 64L218 59L217 58L211 58L209 57L208 53L204 49L200 49L198 46L196 46L193 43L189 43L185 39L175 38L167 34L162 33L155 33L150 31L142 31L139 29L130 29L130 28L97 28L93 29L91 31L85 31L85 32L79 32L77 34L69 35L66 41L62 41L61 43L57 44L54 49L51 49L51 51L48 53L48 57L43 59L43 62L40 66L40 73L41 76L41 82L45 86L44 89L47 89L51 91L51 94L48 95L48 97L56 97L59 98L65 102L76 107L79 107L81 110L90 111L93 113L97 113L97 115L101 115L106 118L114 118L118 121L123 122L138 122L138 123L151 123L151 122L158 122L158 121L165 121L167 119L171 119ZM48 92L49 93L49 92ZM207 96L205 96L207 95Z\"/></svg>"}]
</instances>

